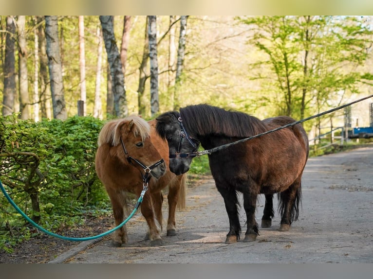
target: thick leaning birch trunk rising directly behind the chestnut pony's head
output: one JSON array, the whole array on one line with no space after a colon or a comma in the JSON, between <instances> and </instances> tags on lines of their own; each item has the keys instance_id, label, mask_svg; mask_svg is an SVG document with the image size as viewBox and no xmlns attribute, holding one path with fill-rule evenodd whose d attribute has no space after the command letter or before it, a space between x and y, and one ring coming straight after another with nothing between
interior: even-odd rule
<instances>
[{"instance_id":1,"label":"thick leaning birch trunk rising directly behind the chestnut pony's head","mask_svg":"<svg viewBox=\"0 0 373 279\"><path fill-rule=\"evenodd\" d=\"M100 22L113 80L112 89L114 94L115 116L125 117L128 115L128 106L126 90L124 88L122 63L120 61L120 54L115 42L113 16L100 16Z\"/></svg>"}]
</instances>

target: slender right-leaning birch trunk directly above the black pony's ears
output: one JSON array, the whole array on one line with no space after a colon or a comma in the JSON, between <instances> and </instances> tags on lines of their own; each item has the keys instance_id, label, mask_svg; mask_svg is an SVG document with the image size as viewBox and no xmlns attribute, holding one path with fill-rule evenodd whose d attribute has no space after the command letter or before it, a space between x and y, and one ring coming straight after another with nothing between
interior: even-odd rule
<instances>
[{"instance_id":1,"label":"slender right-leaning birch trunk directly above the black pony's ears","mask_svg":"<svg viewBox=\"0 0 373 279\"><path fill-rule=\"evenodd\" d=\"M179 48L177 50L177 64L176 64L176 78L175 78L175 94L174 94L174 110L180 108L179 87L182 84L181 75L183 73L184 56L185 56L185 42L186 42L186 20L188 16L180 17L180 36Z\"/></svg>"}]
</instances>

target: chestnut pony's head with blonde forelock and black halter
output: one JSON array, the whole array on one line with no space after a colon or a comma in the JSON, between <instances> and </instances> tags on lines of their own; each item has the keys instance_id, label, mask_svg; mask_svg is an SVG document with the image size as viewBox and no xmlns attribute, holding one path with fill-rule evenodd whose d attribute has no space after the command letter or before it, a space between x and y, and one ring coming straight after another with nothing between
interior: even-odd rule
<instances>
[{"instance_id":1,"label":"chestnut pony's head with blonde forelock and black halter","mask_svg":"<svg viewBox=\"0 0 373 279\"><path fill-rule=\"evenodd\" d=\"M107 122L98 136L98 147L109 144L114 148L114 156L123 164L150 167L162 159L150 140L150 126L139 116ZM156 178L166 173L165 163L160 163L150 174Z\"/></svg>"}]
</instances>

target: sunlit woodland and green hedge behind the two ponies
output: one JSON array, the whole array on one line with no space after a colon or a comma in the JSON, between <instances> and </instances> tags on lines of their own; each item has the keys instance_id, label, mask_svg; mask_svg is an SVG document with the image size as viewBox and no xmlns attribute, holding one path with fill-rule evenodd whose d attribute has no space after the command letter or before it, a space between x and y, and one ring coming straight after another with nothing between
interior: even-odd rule
<instances>
[{"instance_id":1,"label":"sunlit woodland and green hedge behind the two ponies","mask_svg":"<svg viewBox=\"0 0 373 279\"><path fill-rule=\"evenodd\" d=\"M93 164L108 119L199 103L302 119L371 94L370 16L4 16L0 24L0 177L50 228L108 210ZM352 108L360 126L370 125L368 102ZM343 111L304 123L313 136L338 125ZM11 212L2 198L8 249L15 235L33 235Z\"/></svg>"}]
</instances>

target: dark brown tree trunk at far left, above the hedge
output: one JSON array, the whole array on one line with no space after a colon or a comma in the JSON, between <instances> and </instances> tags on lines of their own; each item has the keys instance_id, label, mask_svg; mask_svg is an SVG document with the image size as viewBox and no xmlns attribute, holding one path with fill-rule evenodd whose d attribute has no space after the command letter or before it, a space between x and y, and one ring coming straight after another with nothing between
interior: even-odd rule
<instances>
[{"instance_id":1,"label":"dark brown tree trunk at far left, above the hedge","mask_svg":"<svg viewBox=\"0 0 373 279\"><path fill-rule=\"evenodd\" d=\"M4 92L2 100L2 115L11 115L14 112L14 98L16 95L14 44L16 24L13 16L6 17L6 39L4 59Z\"/></svg>"}]
</instances>

